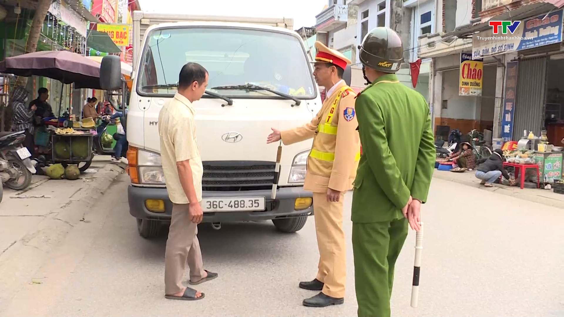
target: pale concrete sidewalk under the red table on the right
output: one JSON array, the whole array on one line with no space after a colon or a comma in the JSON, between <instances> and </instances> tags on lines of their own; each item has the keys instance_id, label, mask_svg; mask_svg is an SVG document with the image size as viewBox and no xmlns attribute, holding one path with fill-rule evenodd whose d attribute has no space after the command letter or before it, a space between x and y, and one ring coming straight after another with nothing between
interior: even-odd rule
<instances>
[{"instance_id":1,"label":"pale concrete sidewalk under the red table on the right","mask_svg":"<svg viewBox=\"0 0 564 317\"><path fill-rule=\"evenodd\" d=\"M564 208L564 195L554 193L551 190L544 190L543 188L523 188L519 186L505 186L501 184L494 184L495 187L484 187L480 185L480 180L474 175L474 171L465 171L464 173L454 173L451 171L440 171L435 169L433 173L434 178L450 180L451 182L465 184L471 187L480 188L484 191L496 192L502 195L512 196L518 199L538 202L539 204ZM464 193L460 193L460 197L464 197ZM468 197L467 197L468 198ZM479 197L472 197L479 199ZM510 202L508 201L508 204Z\"/></svg>"}]
</instances>

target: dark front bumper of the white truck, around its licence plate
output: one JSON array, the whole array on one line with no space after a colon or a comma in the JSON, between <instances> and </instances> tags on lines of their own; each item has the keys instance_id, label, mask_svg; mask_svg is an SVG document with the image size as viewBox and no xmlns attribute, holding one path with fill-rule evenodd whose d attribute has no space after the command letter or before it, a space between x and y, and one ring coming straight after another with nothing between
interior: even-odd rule
<instances>
[{"instance_id":1,"label":"dark front bumper of the white truck, around its licence plate","mask_svg":"<svg viewBox=\"0 0 564 317\"><path fill-rule=\"evenodd\" d=\"M270 195L270 190L232 192L204 191L202 192L202 197L204 198L265 196L266 210L262 212L204 213L204 220L202 222L262 221L297 217L300 215L312 215L314 212L313 205L303 210L294 209L294 202L296 198L312 197L312 193L304 191L303 187L281 187L276 192L276 199L274 201L269 198ZM166 188L136 187L130 185L129 188L127 188L127 197L129 200L129 213L133 215L133 217L139 219L170 221L173 203L169 199ZM165 202L165 212L153 213L149 211L145 206L145 201L147 199L163 200Z\"/></svg>"}]
</instances>

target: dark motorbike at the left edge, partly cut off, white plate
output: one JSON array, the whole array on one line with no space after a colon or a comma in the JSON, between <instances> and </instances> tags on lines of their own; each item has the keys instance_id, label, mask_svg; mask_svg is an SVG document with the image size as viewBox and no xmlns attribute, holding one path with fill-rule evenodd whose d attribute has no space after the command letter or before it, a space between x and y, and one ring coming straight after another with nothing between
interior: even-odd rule
<instances>
[{"instance_id":1,"label":"dark motorbike at the left edge, partly cut off, white plate","mask_svg":"<svg viewBox=\"0 0 564 317\"><path fill-rule=\"evenodd\" d=\"M16 191L27 188L36 173L31 153L21 144L24 139L24 131L0 132L0 179L2 184Z\"/></svg>"}]
</instances>

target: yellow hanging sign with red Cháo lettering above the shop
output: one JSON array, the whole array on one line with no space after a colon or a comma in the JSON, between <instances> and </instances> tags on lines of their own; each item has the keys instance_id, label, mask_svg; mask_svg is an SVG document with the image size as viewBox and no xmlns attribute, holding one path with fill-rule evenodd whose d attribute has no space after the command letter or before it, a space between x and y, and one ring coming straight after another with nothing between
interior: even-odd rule
<instances>
[{"instance_id":1,"label":"yellow hanging sign with red Ch\u00e1o lettering above the shop","mask_svg":"<svg viewBox=\"0 0 564 317\"><path fill-rule=\"evenodd\" d=\"M481 96L483 59L473 60L472 54L460 54L459 96Z\"/></svg>"}]
</instances>

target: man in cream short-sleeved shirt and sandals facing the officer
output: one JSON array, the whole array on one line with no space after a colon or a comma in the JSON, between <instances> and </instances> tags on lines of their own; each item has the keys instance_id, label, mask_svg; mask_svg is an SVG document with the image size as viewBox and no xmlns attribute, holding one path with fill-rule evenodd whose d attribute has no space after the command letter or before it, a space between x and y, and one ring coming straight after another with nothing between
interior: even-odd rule
<instances>
[{"instance_id":1,"label":"man in cream short-sleeved shirt and sandals facing the officer","mask_svg":"<svg viewBox=\"0 0 564 317\"><path fill-rule=\"evenodd\" d=\"M200 64L188 63L180 70L178 93L158 114L162 170L166 190L173 202L169 237L165 252L165 297L171 300L195 301L205 294L182 285L186 263L190 267L190 284L217 278L204 270L197 225L204 213L202 200L202 159L196 142L195 109L208 86L208 72Z\"/></svg>"}]
</instances>

